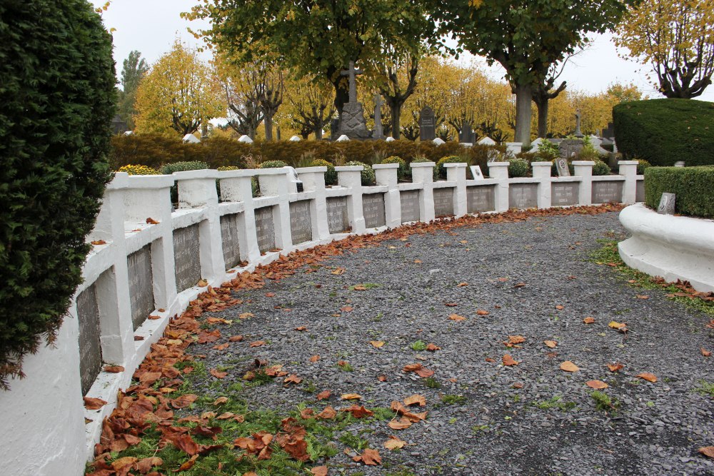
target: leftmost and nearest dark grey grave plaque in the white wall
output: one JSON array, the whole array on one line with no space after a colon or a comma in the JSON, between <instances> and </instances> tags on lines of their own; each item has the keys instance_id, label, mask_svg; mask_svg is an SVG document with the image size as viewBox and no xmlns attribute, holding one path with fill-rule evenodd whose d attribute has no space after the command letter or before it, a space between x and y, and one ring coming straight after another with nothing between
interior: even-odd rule
<instances>
[{"instance_id":1,"label":"leftmost and nearest dark grey grave plaque in the white wall","mask_svg":"<svg viewBox=\"0 0 714 476\"><path fill-rule=\"evenodd\" d=\"M86 395L101 371L101 341L99 336L99 306L96 303L96 283L77 296L79 318L79 377L82 395Z\"/></svg>"}]
</instances>

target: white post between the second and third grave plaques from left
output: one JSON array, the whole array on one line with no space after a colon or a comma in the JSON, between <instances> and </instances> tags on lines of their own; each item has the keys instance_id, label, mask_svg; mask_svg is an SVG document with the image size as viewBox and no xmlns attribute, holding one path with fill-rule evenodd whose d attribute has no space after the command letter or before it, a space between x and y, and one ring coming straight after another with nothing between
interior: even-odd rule
<instances>
[{"instance_id":1,"label":"white post between the second and third grave plaques from left","mask_svg":"<svg viewBox=\"0 0 714 476\"><path fill-rule=\"evenodd\" d=\"M151 272L154 275L156 308L168 309L176 300L174 270L174 227L171 223L171 186L174 176L129 176L124 189L124 221L146 226L146 219L159 223L160 238L151 243ZM131 228L130 228L131 229Z\"/></svg>"}]
</instances>

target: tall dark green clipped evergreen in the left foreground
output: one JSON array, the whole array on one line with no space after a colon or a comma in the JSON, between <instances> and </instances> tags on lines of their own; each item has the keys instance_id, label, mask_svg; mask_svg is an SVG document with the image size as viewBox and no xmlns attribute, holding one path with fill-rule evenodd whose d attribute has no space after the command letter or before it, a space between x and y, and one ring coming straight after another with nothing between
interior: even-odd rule
<instances>
[{"instance_id":1,"label":"tall dark green clipped evergreen in the left foreground","mask_svg":"<svg viewBox=\"0 0 714 476\"><path fill-rule=\"evenodd\" d=\"M116 91L85 0L0 2L0 388L54 341L81 283Z\"/></svg>"}]
</instances>

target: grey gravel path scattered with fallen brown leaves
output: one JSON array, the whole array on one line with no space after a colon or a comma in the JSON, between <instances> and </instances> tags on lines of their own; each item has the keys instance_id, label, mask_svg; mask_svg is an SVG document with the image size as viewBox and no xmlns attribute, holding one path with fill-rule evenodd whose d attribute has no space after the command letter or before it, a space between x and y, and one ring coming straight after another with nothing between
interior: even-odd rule
<instances>
[{"instance_id":1,"label":"grey gravel path scattered with fallen brown leaves","mask_svg":"<svg viewBox=\"0 0 714 476\"><path fill-rule=\"evenodd\" d=\"M236 293L250 302L211 315L233 319L223 336L245 340L213 350L222 338L191 352L206 355L206 367L232 365L226 385L253 357L303 379L251 389L243 396L254 407L339 408L342 393L361 394L367 407L426 397L416 411L428 410L427 420L406 430L374 420L351 428L379 450L383 466L341 452L327 463L331 475L713 475L714 460L697 451L714 445L712 396L696 391L702 380L714 383L711 358L700 353L714 347L710 316L663 291L633 288L588 260L598 239L622 232L617 214L605 213L386 241ZM367 289L351 289L358 284ZM237 318L246 312L255 317ZM453 313L466 320L450 320ZM586 317L595 323L586 325ZM629 332L608 328L611 320L626 322ZM509 335L525 338L521 348L503 344ZM249 347L257 340L266 345ZM413 350L418 340L441 350ZM504 366L505 354L520 364ZM313 355L321 359L309 362ZM338 368L339 360L353 371ZM560 370L565 360L580 370ZM606 367L615 361L624 365L619 373ZM404 373L412 363L433 378ZM643 372L658 380L635 377ZM596 407L588 380L608 383L603 393L618 411ZM333 397L316 402L321 390ZM215 386L203 391L216 393ZM390 452L382 446L388 435L413 445Z\"/></svg>"}]
</instances>

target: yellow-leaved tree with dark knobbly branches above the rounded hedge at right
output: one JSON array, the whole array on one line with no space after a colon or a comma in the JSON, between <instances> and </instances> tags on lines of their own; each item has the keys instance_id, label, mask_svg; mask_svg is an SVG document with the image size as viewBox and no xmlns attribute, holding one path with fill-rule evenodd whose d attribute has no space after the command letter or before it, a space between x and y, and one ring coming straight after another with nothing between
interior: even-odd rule
<instances>
[{"instance_id":1,"label":"yellow-leaved tree with dark knobbly branches above the rounded hedge at right","mask_svg":"<svg viewBox=\"0 0 714 476\"><path fill-rule=\"evenodd\" d=\"M628 11L615 44L650 64L668 98L695 98L714 73L714 1L643 0Z\"/></svg>"}]
</instances>

